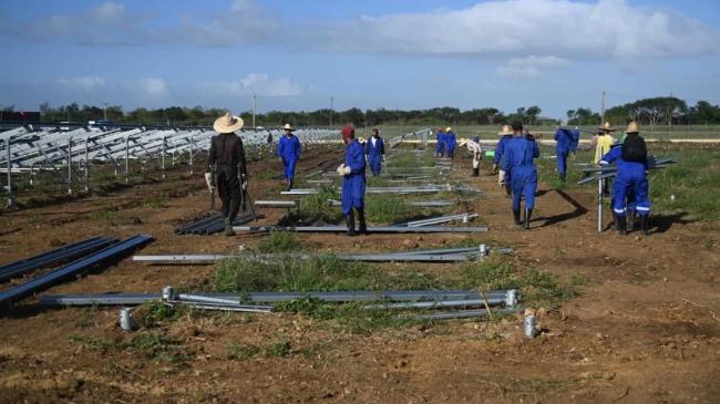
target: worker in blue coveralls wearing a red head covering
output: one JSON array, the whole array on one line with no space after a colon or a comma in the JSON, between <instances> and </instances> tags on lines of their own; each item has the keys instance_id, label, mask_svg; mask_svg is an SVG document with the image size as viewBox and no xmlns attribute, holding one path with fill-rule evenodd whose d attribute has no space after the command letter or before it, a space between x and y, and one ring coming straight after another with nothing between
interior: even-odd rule
<instances>
[{"instance_id":1,"label":"worker in blue coveralls wearing a red head covering","mask_svg":"<svg viewBox=\"0 0 720 404\"><path fill-rule=\"evenodd\" d=\"M366 197L366 154L362 145L354 138L354 127L346 125L342 128L342 142L344 142L344 163L338 167L338 174L342 176L342 215L348 225L348 236L354 236L354 215L358 213L358 230L361 234L368 232L368 225L364 216Z\"/></svg>"}]
</instances>

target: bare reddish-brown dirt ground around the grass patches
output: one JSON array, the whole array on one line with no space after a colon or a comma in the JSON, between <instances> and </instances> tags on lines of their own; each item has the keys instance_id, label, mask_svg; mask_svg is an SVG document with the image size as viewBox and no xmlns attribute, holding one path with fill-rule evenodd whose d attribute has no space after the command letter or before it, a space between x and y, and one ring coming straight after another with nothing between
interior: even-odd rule
<instances>
[{"instance_id":1,"label":"bare reddish-brown dirt ground around the grass patches","mask_svg":"<svg viewBox=\"0 0 720 404\"><path fill-rule=\"evenodd\" d=\"M299 167L312 170L336 156L308 152ZM0 318L0 402L720 401L717 222L658 215L650 237L598 234L592 187L556 191L541 184L533 229L523 231L512 225L496 178L486 173L470 178L470 163L456 158L452 175L485 193L467 205L480 214L477 222L490 227L483 237L514 247L527 265L585 280L578 298L539 318L545 332L538 338L523 338L517 318L358 335L290 314L187 315L162 328L189 356L173 363L93 344L128 338L116 325L116 308L48 309L28 299ZM280 169L266 160L250 170L255 178L267 172ZM171 173L165 182L3 214L0 263L95 235L150 234L155 241L142 250L148 255L226 253L265 237L174 235L176 225L208 208L200 176L183 178ZM279 199L281 187L276 179L250 183L257 199ZM261 222L269 224L282 209L264 213ZM299 237L319 250L339 251L436 247L464 236ZM433 271L451 268L432 266ZM125 259L48 293L158 292L166 284L203 284L212 270ZM282 355L238 359L228 354L228 344L238 341L290 348Z\"/></svg>"}]
</instances>

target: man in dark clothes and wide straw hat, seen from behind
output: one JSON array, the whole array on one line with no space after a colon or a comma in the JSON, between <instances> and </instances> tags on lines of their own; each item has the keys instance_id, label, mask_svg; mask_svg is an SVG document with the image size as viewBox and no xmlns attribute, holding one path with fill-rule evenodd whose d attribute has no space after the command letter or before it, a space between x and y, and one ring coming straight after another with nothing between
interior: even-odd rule
<instances>
[{"instance_id":1,"label":"man in dark clothes and wide straw hat, seen from behind","mask_svg":"<svg viewBox=\"0 0 720 404\"><path fill-rule=\"evenodd\" d=\"M218 133L210 139L210 149L207 155L205 182L213 191L217 185L217 193L223 203L223 217L225 218L225 236L233 236L233 220L243 201L243 190L247 189L247 164L243 139L235 134L243 127L243 118L227 114L215 120L213 128ZM216 182L213 182L213 172Z\"/></svg>"}]
</instances>

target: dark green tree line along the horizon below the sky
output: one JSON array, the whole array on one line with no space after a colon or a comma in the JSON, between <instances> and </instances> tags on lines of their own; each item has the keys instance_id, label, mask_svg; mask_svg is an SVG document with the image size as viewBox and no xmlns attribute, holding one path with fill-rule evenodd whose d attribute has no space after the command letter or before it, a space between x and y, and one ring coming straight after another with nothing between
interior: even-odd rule
<instances>
[{"instance_id":1,"label":"dark green tree line along the horizon below the sky","mask_svg":"<svg viewBox=\"0 0 720 404\"><path fill-rule=\"evenodd\" d=\"M13 107L3 107L12 111ZM144 125L174 125L174 126L209 126L216 117L225 113L222 108L206 108L202 106L166 108L135 108L123 111L120 105L105 107L83 105L76 103L61 106L51 106L49 103L40 105L43 122L75 122L106 120L116 124L144 124ZM493 125L520 121L525 124L560 123L541 117L542 110L536 106L520 107L512 113L503 113L494 107L460 108L443 106L429 110L366 110L353 107L346 111L331 111L329 108L316 111L270 111L255 116L256 126L279 126L290 123L296 126L328 126L352 123L356 126L376 126L383 124L400 125ZM253 115L249 111L240 116L246 125L250 126ZM569 110L565 123L568 125L595 125L601 122L599 112L587 107ZM707 101L699 101L693 106L678 97L642 99L624 105L613 106L605 111L605 121L615 125L626 124L628 121L638 121L644 125L677 125L677 124L720 124L720 106Z\"/></svg>"}]
</instances>

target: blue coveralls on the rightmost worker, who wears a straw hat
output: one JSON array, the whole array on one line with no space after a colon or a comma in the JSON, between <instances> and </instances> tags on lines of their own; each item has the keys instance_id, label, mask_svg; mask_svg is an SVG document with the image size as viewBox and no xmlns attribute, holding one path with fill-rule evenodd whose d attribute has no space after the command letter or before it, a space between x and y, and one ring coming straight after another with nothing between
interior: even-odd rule
<instances>
[{"instance_id":1,"label":"blue coveralls on the rightmost worker, who wears a straw hat","mask_svg":"<svg viewBox=\"0 0 720 404\"><path fill-rule=\"evenodd\" d=\"M650 198L648 194L647 160L644 163L626 162L621 157L623 147L617 145L603 156L600 165L616 163L617 174L613 183L613 211L618 217L627 215L627 199L631 194L635 209L640 216L650 215Z\"/></svg>"}]
</instances>

